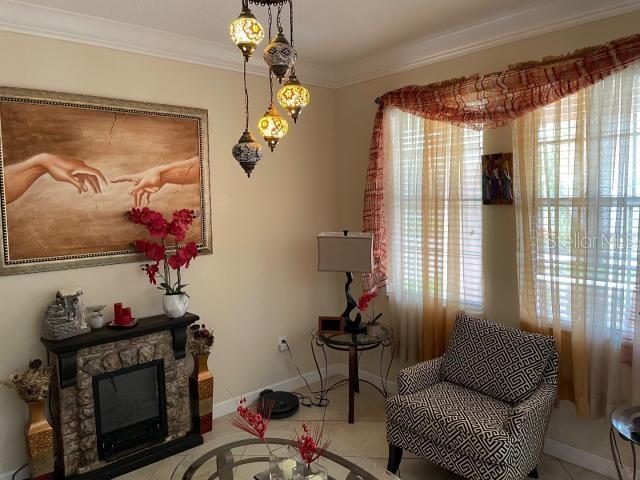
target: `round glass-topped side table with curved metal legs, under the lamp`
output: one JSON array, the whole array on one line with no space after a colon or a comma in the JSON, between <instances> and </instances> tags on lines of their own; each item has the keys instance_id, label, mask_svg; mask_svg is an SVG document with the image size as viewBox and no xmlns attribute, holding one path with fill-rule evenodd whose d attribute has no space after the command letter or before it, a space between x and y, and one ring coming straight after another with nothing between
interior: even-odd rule
<instances>
[{"instance_id":1,"label":"round glass-topped side table with curved metal legs, under the lamp","mask_svg":"<svg viewBox=\"0 0 640 480\"><path fill-rule=\"evenodd\" d=\"M333 390L335 387L340 386L345 383L344 380L336 382L332 386L328 388L324 388L325 379L322 378L322 372L320 371L320 367L318 366L318 361L316 359L315 351L313 350L313 343L316 346L322 348L323 354L326 360L326 351L325 347L328 347L332 350L338 350L343 352L349 352L349 423L353 423L355 421L354 418L354 403L355 403L355 394L360 392L360 382L367 383L374 387L382 396L387 398L387 389L386 389L386 375L384 375L384 367L383 367L383 359L384 352L387 348L392 348L391 358L389 359L389 364L387 368L387 375L389 370L391 369L391 362L393 360L393 350L395 350L395 342L393 341L393 330L384 325L379 325L380 334L379 335L369 335L368 333L342 333L342 332L326 332L315 329L311 332L312 337L312 347L311 351L313 353L314 360L316 360L316 367L318 367L318 374L320 375L320 381L323 385L323 391ZM377 385L359 378L358 374L358 354L360 352L366 352L368 350L374 350L376 348L381 348L380 351L380 379L382 381L382 388ZM326 362L325 362L326 363Z\"/></svg>"}]
</instances>

